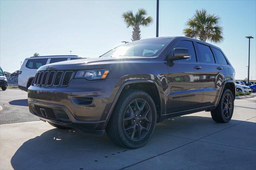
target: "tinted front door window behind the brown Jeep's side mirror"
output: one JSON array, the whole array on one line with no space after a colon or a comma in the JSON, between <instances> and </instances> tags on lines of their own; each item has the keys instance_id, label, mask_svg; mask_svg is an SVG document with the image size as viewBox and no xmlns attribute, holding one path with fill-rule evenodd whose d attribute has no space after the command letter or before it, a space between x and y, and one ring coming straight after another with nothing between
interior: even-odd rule
<instances>
[{"instance_id":1,"label":"tinted front door window behind the brown Jeep's side mirror","mask_svg":"<svg viewBox=\"0 0 256 170\"><path fill-rule=\"evenodd\" d=\"M194 49L194 45L192 41L180 41L174 48L187 48L190 54L190 58L188 59L182 59L178 61L183 61L183 62L196 62L196 53Z\"/></svg>"}]
</instances>

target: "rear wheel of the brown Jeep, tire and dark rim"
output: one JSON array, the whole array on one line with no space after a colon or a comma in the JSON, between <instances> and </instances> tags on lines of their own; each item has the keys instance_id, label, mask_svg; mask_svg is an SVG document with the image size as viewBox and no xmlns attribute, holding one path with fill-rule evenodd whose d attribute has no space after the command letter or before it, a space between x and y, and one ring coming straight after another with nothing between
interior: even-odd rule
<instances>
[{"instance_id":1,"label":"rear wheel of the brown Jeep, tire and dark rim","mask_svg":"<svg viewBox=\"0 0 256 170\"><path fill-rule=\"evenodd\" d=\"M228 123L234 111L234 96L229 89L224 89L218 106L211 111L212 119L219 123Z\"/></svg>"}]
</instances>

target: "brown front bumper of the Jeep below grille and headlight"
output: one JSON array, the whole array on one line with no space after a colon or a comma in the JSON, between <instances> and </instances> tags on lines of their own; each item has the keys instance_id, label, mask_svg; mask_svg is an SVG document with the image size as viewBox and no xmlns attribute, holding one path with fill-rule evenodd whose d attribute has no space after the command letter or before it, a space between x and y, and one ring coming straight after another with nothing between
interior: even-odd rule
<instances>
[{"instance_id":1,"label":"brown front bumper of the Jeep below grille and headlight","mask_svg":"<svg viewBox=\"0 0 256 170\"><path fill-rule=\"evenodd\" d=\"M28 88L28 106L32 114L41 120L77 128L89 134L102 135L108 123L108 114L112 106L110 89L115 81L87 82L73 80L68 87ZM74 98L94 98L90 105L79 105Z\"/></svg>"}]
</instances>

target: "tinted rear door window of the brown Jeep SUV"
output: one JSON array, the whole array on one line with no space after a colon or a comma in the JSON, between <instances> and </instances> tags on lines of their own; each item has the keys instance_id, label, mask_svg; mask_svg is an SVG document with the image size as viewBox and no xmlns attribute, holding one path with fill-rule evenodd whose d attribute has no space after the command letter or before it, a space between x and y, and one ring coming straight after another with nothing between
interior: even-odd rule
<instances>
[{"instance_id":1,"label":"tinted rear door window of the brown Jeep SUV","mask_svg":"<svg viewBox=\"0 0 256 170\"><path fill-rule=\"evenodd\" d=\"M215 63L214 56L210 47L199 43L197 43L197 45L201 57L201 62Z\"/></svg>"}]
</instances>

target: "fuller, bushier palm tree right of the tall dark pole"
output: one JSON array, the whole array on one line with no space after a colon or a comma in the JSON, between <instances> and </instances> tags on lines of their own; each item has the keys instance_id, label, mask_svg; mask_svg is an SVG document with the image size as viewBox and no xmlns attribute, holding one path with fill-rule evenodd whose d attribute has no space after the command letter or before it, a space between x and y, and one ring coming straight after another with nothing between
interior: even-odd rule
<instances>
[{"instance_id":1,"label":"fuller, bushier palm tree right of the tall dark pole","mask_svg":"<svg viewBox=\"0 0 256 170\"><path fill-rule=\"evenodd\" d=\"M196 10L194 16L186 22L186 26L187 28L183 30L185 36L215 43L220 43L224 39L220 17L216 14L207 14L204 9Z\"/></svg>"}]
</instances>

